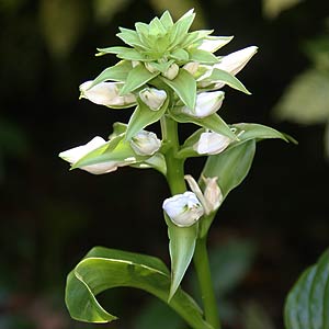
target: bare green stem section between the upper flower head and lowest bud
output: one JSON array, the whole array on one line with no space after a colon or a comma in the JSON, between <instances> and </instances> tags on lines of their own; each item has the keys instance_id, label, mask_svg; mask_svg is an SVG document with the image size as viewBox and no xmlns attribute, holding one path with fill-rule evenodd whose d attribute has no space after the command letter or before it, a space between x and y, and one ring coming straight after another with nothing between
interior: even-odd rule
<instances>
[{"instance_id":1,"label":"bare green stem section between the upper flower head and lowest bud","mask_svg":"<svg viewBox=\"0 0 329 329\"><path fill-rule=\"evenodd\" d=\"M172 195L184 193L186 184L184 180L184 159L175 157L179 151L178 123L168 115L161 118L161 131L166 144L167 181Z\"/></svg>"}]
</instances>

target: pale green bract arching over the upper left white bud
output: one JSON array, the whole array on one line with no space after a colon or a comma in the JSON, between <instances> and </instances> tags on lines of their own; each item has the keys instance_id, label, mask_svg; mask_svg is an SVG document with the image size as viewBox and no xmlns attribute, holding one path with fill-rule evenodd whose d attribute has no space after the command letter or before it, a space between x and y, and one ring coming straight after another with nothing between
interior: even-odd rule
<instances>
[{"instance_id":1,"label":"pale green bract arching over the upper left white bud","mask_svg":"<svg viewBox=\"0 0 329 329\"><path fill-rule=\"evenodd\" d=\"M132 63L121 60L114 66L104 69L93 81L90 88L104 81L120 81L124 82L127 79L129 71L133 69Z\"/></svg>"}]
</instances>

